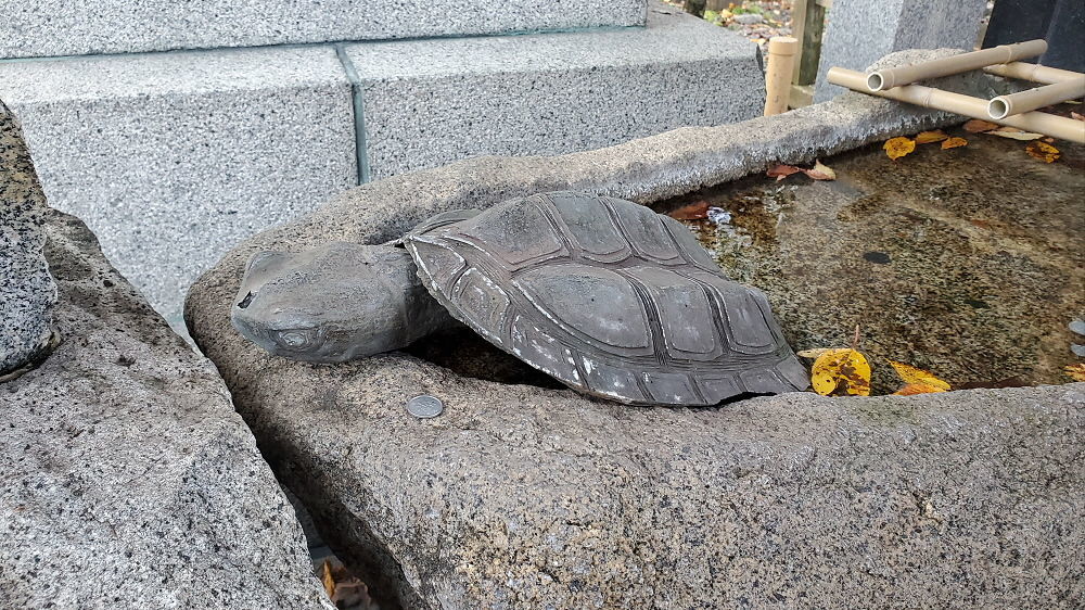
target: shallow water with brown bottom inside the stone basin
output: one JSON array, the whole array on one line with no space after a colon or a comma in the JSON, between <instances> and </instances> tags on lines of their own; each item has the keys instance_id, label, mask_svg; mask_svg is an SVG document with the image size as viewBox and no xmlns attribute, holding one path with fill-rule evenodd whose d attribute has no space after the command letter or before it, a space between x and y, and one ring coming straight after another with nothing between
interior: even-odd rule
<instances>
[{"instance_id":1,"label":"shallow water with brown bottom inside the stone basin","mask_svg":"<svg viewBox=\"0 0 1085 610\"><path fill-rule=\"evenodd\" d=\"M859 348L875 393L899 380L886 358L954 386L1065 383L1085 316L1085 148L946 130L968 147L921 144L892 161L880 144L822 160L835 181L753 176L661 202L707 202L685 221L732 278L764 290L796 350Z\"/></svg>"}]
</instances>

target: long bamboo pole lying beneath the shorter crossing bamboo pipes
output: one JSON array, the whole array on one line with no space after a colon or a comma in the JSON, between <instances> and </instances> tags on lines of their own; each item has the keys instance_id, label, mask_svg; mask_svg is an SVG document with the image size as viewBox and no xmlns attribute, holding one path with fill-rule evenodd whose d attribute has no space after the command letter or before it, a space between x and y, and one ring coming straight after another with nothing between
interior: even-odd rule
<instances>
[{"instance_id":1,"label":"long bamboo pole lying beneath the shorter crossing bamboo pipes","mask_svg":"<svg viewBox=\"0 0 1085 610\"><path fill-rule=\"evenodd\" d=\"M923 107L952 112L971 118L991 120L987 116L987 100L972 98L971 96L962 96L952 91L943 91L931 87L923 87L922 85L906 85L904 87L895 87L888 91L870 91L867 89L866 77L867 75L861 72L845 69L842 67L831 68L827 75L829 82L832 82L833 85L847 87L848 89L870 96L878 96L880 98L908 102ZM1007 116L1006 118L999 118L997 120L993 120L992 123L1008 125L1010 127L1017 127L1018 129L1024 129L1025 131L1033 131L1045 136L1051 136L1054 138L1069 140L1071 142L1077 142L1078 144L1085 144L1085 122L1074 120L1073 118L1067 118L1064 116L1057 116L1045 112L1026 112L1024 114L1016 114Z\"/></svg>"}]
</instances>

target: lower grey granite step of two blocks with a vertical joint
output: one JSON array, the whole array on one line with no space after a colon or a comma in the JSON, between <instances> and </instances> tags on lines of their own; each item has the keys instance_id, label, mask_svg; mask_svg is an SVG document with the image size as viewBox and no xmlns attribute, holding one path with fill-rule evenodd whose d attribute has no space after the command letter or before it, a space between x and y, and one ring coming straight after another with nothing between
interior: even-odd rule
<instances>
[{"instance_id":1,"label":"lower grey granite step of two blocks with a vertical joint","mask_svg":"<svg viewBox=\"0 0 1085 610\"><path fill-rule=\"evenodd\" d=\"M175 320L232 244L366 178L742 120L763 100L754 43L662 4L647 28L340 50L0 61L0 98L50 205Z\"/></svg>"}]
</instances>

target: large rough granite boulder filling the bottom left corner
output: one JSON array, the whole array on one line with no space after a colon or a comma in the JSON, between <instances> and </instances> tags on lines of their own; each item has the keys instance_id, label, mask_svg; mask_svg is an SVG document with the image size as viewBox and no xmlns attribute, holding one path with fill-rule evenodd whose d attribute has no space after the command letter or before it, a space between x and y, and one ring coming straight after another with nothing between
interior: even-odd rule
<instances>
[{"instance_id":1,"label":"large rough granite boulder filling the bottom left corner","mask_svg":"<svg viewBox=\"0 0 1085 610\"><path fill-rule=\"evenodd\" d=\"M0 383L0 608L331 609L214 366L46 217L64 341Z\"/></svg>"}]
</instances>

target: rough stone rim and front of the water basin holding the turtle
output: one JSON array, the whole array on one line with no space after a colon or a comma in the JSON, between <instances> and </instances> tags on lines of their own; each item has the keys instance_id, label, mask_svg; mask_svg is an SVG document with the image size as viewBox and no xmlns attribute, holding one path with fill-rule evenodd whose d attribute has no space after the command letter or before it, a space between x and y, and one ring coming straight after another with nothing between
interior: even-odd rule
<instances>
[{"instance_id":1,"label":"rough stone rim and front of the water basin holding the turtle","mask_svg":"<svg viewBox=\"0 0 1085 610\"><path fill-rule=\"evenodd\" d=\"M943 82L984 94L987 80ZM587 153L382 180L234 249L190 291L189 328L272 468L388 603L1067 606L1085 595L1085 385L630 408L405 353L289 361L230 327L260 250L381 243L442 211L547 190L651 202L953 120L850 93ZM405 403L422 393L445 414L410 417Z\"/></svg>"}]
</instances>

